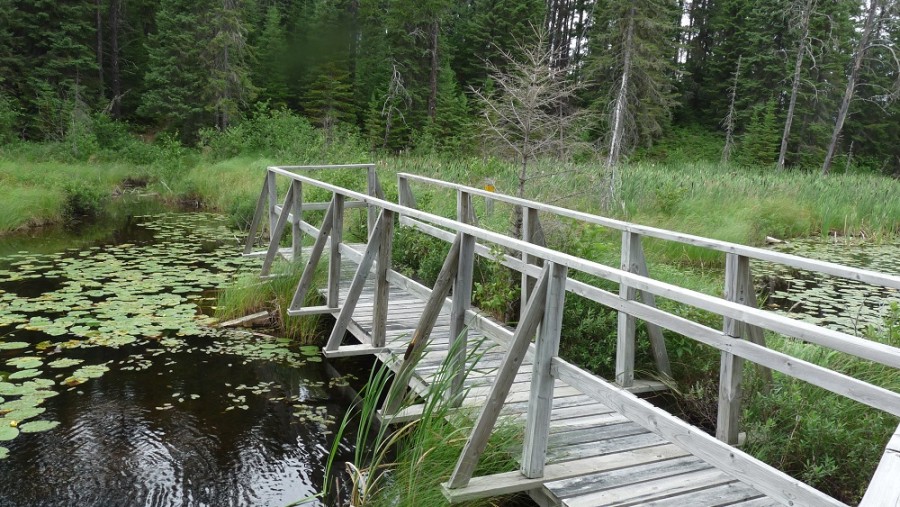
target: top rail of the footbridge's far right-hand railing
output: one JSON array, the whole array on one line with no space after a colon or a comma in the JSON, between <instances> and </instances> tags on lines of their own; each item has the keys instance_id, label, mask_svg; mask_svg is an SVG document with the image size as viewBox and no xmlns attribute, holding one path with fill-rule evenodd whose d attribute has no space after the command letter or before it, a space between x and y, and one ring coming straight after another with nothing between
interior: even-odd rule
<instances>
[{"instance_id":1,"label":"top rail of the footbridge's far right-hand railing","mask_svg":"<svg viewBox=\"0 0 900 507\"><path fill-rule=\"evenodd\" d=\"M482 197L487 197L489 199L494 199L497 201L506 202L509 204L514 204L518 206L524 206L532 209L536 209L538 211L545 211L548 213L554 213L556 215L564 216L567 218L572 218L575 220L580 220L583 222L601 225L604 227L609 227L611 229L617 229L626 232L633 232L637 234L641 234L644 236L649 236L657 239L662 239L666 241L674 241L676 243L683 243L687 245L697 246L701 248L709 248L711 250L718 250L725 253L732 253L737 255L742 255L744 257L750 257L757 260L773 262L777 264L783 264L786 266L791 266L798 269L806 269L809 271L818 271L821 273L825 273L832 276L837 276L840 278L846 278L850 280L856 280L859 282L868 283L870 285L880 285L883 287L890 287L894 289L900 289L900 276L891 275L887 273L880 273L878 271L872 271L868 269L862 268L854 268L851 266L845 266L843 264L837 264L834 262L828 261L820 261L816 259L808 259L806 257L800 257L798 255L786 254L782 252L775 252L772 250L766 250L764 248L752 247L747 245L741 245L739 243L732 243L729 241L722 241L712 238L705 238L703 236L696 236L693 234L687 234L677 231L670 231L667 229L660 229L657 227L651 227L648 225L636 224L633 222L626 222L624 220L617 220L614 218L603 217L600 215L594 215L591 213L586 213L583 211L576 211L569 208L563 208L561 206L555 206L552 204L546 204L538 201L532 201L529 199L523 199L521 197L515 197L508 194L491 192L488 190L482 190L476 187L470 187L467 185L462 185L459 183L452 183L448 181L442 181L435 178L429 178L427 176L420 176L417 174L410 173L397 173L397 176L400 178L406 178L413 181L418 181L421 183L428 183L432 185L441 186L444 188L450 188L459 190L462 192L467 192L473 195L479 195Z\"/></svg>"}]
</instances>

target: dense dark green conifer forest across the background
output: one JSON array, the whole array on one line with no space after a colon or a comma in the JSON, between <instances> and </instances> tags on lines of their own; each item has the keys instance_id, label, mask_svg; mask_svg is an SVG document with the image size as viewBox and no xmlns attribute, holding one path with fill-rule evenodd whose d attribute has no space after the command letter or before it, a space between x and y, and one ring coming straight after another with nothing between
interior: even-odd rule
<instances>
[{"instance_id":1,"label":"dense dark green conifer forest across the background","mask_svg":"<svg viewBox=\"0 0 900 507\"><path fill-rule=\"evenodd\" d=\"M551 109L579 113L572 142L608 162L702 132L738 163L900 171L896 0L2 4L5 140L102 117L190 145L286 108L372 149L472 151L497 77L537 61L567 85Z\"/></svg>"}]
</instances>

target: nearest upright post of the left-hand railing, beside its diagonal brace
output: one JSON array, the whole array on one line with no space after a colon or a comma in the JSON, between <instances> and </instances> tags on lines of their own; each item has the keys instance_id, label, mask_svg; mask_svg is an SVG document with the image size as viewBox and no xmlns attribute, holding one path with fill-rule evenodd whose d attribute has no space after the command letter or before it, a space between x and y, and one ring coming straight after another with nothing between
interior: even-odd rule
<instances>
[{"instance_id":1,"label":"nearest upright post of the left-hand railing, beside its diagonal brace","mask_svg":"<svg viewBox=\"0 0 900 507\"><path fill-rule=\"evenodd\" d=\"M525 419L525 442L522 451L522 475L537 478L544 475L547 460L547 440L550 437L550 411L553 409L553 375L550 365L559 354L559 335L562 331L563 306L566 298L566 266L547 263L550 279L547 302L544 305L540 333L535 344L531 373L531 396Z\"/></svg>"}]
</instances>

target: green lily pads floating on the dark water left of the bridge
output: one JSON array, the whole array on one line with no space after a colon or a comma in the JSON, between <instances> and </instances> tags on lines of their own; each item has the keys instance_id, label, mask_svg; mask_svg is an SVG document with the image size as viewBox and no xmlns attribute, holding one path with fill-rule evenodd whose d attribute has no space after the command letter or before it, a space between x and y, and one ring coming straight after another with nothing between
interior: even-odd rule
<instances>
[{"instance_id":1,"label":"green lily pads floating on the dark water left of the bridge","mask_svg":"<svg viewBox=\"0 0 900 507\"><path fill-rule=\"evenodd\" d=\"M222 217L166 214L139 217L153 231L145 243L18 252L0 259L0 442L46 431L41 405L61 390L102 377L110 368L143 370L157 356L184 350L188 337L227 335L199 311L208 291L258 260L236 254ZM301 364L286 342L231 337L210 353ZM85 364L79 349L136 347L127 359ZM186 393L188 399L198 396ZM182 399L182 396L176 400ZM8 455L0 447L0 459Z\"/></svg>"}]
</instances>

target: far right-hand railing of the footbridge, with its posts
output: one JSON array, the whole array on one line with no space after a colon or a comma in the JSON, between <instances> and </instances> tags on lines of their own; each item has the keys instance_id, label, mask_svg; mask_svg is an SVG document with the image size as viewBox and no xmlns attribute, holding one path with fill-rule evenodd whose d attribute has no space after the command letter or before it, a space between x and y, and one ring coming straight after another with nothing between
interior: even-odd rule
<instances>
[{"instance_id":1,"label":"far right-hand railing of the footbridge, with its posts","mask_svg":"<svg viewBox=\"0 0 900 507\"><path fill-rule=\"evenodd\" d=\"M689 245L692 247L705 248L722 252L725 255L725 299L753 308L756 308L757 305L756 292L753 287L753 278L750 271L751 259L782 264L797 269L815 271L851 280L857 280L871 285L900 289L900 277L894 275L888 275L865 269L852 268L831 262L818 261L796 255L775 252L772 250L765 250L762 248L750 247L737 243L730 243L727 241L719 241L710 238L694 236L691 234L684 234L680 232L624 222L621 220L592 215L589 213L575 211L560 206L554 206L528 199L521 199L510 195L496 193L494 191L460 185L457 183L450 183L443 180L437 180L434 178L428 178L415 174L400 173L397 175L397 180L398 195L401 198L401 202L404 202L403 199L405 199L405 203L413 207L415 206L416 201L415 194L410 184L412 182L415 182L433 187L449 189L455 191L457 195L468 196L469 200L471 200L472 196L478 196L480 198L484 198L486 201L500 201L513 206L517 206L522 210L522 214L526 219L526 224L528 224L529 222L531 224L540 224L538 213L542 212L551 216L565 217L581 223L593 224L613 230L619 230L622 232L622 254L620 265L621 269L631 273L639 274L643 277L649 277L649 274L647 262L644 257L642 248L642 237L656 238L664 241L671 241L683 245ZM415 219L407 218L401 215L400 223L403 225L416 227L419 230L427 234L432 234L436 237L443 237L444 239L447 238L447 234L445 232L438 231L434 227L429 227L427 224L422 224ZM538 225L538 227L540 226ZM525 241L530 241L531 237L535 233L531 231L527 226L523 229L524 231L522 239ZM543 237L543 233L540 233L540 236ZM486 248L476 248L476 251L479 255L491 255L489 250ZM525 257L527 257L527 254L525 255ZM533 261L530 260L530 263L533 263ZM507 256L505 264L512 269L523 271L521 269L520 263L517 262L516 259L510 258L509 256ZM525 291L524 281L524 277L526 276L528 275L523 272L523 308L525 297L527 294ZM607 304L599 298L593 298L590 295L580 294L578 290L576 290L579 287L580 286L577 283L570 283L569 290L571 290L573 293L582 295L601 304ZM588 291L588 293L590 293L590 291ZM662 296L662 294L659 295ZM626 301L642 298L644 304L648 307L656 307L655 295L653 292L640 291L640 289L637 289L633 285L627 283L620 284L619 296ZM765 348L766 344L763 334L763 327L754 325L748 321L735 319L729 315L722 314L715 310L711 311L723 315L724 334L729 339L745 339L750 343L760 346L761 348ZM623 310L619 311L619 326L617 332L616 348L616 382L623 387L630 387L634 382L636 318L637 316L633 313L629 313ZM663 325L663 327L665 326ZM669 369L669 360L666 356L665 342L663 340L660 327L648 321L647 329L651 339L651 350L654 353L657 367L661 374L670 375L671 371ZM669 329L678 331L675 328ZM780 332L777 329L768 329ZM687 336L694 338L691 335ZM815 340L808 341L817 343ZM824 345L824 343L820 344ZM845 345L844 349L840 349L837 347L832 348L842 350L843 352L847 352L849 354L858 355L856 347L850 344L843 345ZM744 344L737 344L737 346L743 347ZM743 361L745 355L734 352L733 350L731 350L733 347L730 346L722 346L717 348L722 351L722 357L719 379L719 410L718 421L716 425L716 434L717 437L722 439L723 441L731 444L736 444L738 442L739 434L738 417L741 412L741 383L743 376ZM768 378L771 378L771 372L769 371L769 368L771 366L767 364L770 358L765 358L763 362L756 361L754 358L750 357L748 357L747 359L750 359L757 364L762 365L763 374ZM783 369L775 369L783 371Z\"/></svg>"}]
</instances>

